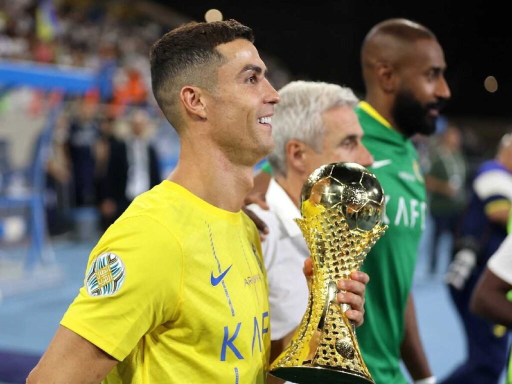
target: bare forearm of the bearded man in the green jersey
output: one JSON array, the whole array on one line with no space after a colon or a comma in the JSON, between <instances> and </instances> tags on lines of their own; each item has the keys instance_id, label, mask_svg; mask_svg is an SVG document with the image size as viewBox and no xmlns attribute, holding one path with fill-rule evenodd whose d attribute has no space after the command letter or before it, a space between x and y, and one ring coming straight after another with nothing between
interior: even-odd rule
<instances>
[{"instance_id":1,"label":"bare forearm of the bearded man in the green jersey","mask_svg":"<svg viewBox=\"0 0 512 384\"><path fill-rule=\"evenodd\" d=\"M400 346L402 360L414 380L430 377L432 372L419 337L412 294L408 298L405 320L406 331Z\"/></svg>"}]
</instances>

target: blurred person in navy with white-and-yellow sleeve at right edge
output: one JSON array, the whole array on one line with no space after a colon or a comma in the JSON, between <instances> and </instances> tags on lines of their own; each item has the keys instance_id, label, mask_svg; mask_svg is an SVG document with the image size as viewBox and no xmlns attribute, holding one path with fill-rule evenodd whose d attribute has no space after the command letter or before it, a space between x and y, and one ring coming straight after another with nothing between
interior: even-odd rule
<instances>
[{"instance_id":1,"label":"blurred person in navy with white-and-yellow sleeve at right edge","mask_svg":"<svg viewBox=\"0 0 512 384\"><path fill-rule=\"evenodd\" d=\"M512 135L502 137L493 160L478 168L457 231L454 258L446 273L452 300L464 324L467 357L443 384L495 384L505 366L508 332L471 313L470 300L487 260L506 237L512 203Z\"/></svg>"}]
</instances>

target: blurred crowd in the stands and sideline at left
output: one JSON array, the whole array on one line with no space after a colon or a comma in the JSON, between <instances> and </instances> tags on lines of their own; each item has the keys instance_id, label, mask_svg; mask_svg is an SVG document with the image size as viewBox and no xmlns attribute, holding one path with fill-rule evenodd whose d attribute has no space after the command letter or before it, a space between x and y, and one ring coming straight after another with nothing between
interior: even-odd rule
<instances>
[{"instance_id":1,"label":"blurred crowd in the stands and sideline at left","mask_svg":"<svg viewBox=\"0 0 512 384\"><path fill-rule=\"evenodd\" d=\"M99 229L104 229L134 196L161 180L177 158L177 137L152 95L147 60L153 42L173 25L148 13L126 2L0 0L0 57L97 74L98 87L82 96L29 88L0 94L0 117L18 109L37 119L54 104L51 100L65 98L47 167L50 234L72 229L70 212L81 207L97 207ZM276 87L289 81L278 60L266 61ZM147 156L142 156L146 147ZM119 159L123 164L115 169ZM138 181L132 182L132 176Z\"/></svg>"}]
</instances>

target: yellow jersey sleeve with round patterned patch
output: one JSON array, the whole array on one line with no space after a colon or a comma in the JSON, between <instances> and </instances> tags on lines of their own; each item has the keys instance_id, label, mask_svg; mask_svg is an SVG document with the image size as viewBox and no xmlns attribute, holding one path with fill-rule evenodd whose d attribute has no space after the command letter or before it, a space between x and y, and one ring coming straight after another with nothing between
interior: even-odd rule
<instances>
[{"instance_id":1,"label":"yellow jersey sleeve with round patterned patch","mask_svg":"<svg viewBox=\"0 0 512 384\"><path fill-rule=\"evenodd\" d=\"M60 324L121 361L144 334L174 318L182 280L173 234L149 217L126 218L92 250L84 285Z\"/></svg>"}]
</instances>

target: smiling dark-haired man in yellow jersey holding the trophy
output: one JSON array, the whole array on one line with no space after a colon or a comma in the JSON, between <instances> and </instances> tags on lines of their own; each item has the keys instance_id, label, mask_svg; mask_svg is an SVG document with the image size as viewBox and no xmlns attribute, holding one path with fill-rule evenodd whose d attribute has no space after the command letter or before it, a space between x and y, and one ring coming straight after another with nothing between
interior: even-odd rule
<instances>
[{"instance_id":1,"label":"smiling dark-haired man in yellow jersey holding the trophy","mask_svg":"<svg viewBox=\"0 0 512 384\"><path fill-rule=\"evenodd\" d=\"M252 41L228 20L184 25L153 46L153 92L179 134L178 165L92 250L84 286L27 382L265 382L266 271L240 209L273 148L280 99ZM357 300L339 298L362 313L356 283Z\"/></svg>"}]
</instances>

